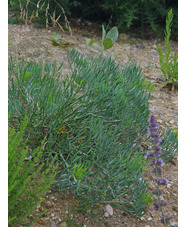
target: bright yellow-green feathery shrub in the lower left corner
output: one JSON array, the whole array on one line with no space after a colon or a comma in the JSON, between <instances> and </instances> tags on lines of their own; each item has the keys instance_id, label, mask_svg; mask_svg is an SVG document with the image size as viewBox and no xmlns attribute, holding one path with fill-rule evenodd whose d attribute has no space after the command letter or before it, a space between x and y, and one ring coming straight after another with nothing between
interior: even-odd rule
<instances>
[{"instance_id":1,"label":"bright yellow-green feathery shrub in the lower left corner","mask_svg":"<svg viewBox=\"0 0 186 227\"><path fill-rule=\"evenodd\" d=\"M25 219L41 204L41 197L51 187L57 167L53 166L54 161L46 169L43 169L44 163L38 166L43 144L32 152L33 159L25 161L28 149L22 137L26 126L25 118L19 131L9 128L8 134L8 222L15 227L24 225Z\"/></svg>"}]
</instances>

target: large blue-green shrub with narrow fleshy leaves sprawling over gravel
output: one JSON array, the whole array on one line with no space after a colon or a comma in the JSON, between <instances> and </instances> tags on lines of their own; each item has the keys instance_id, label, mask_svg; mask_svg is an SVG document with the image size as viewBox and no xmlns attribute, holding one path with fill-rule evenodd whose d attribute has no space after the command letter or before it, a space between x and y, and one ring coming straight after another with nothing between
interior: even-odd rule
<instances>
[{"instance_id":1,"label":"large blue-green shrub with narrow fleshy leaves sprawling over gravel","mask_svg":"<svg viewBox=\"0 0 186 227\"><path fill-rule=\"evenodd\" d=\"M61 166L53 188L70 189L80 210L109 203L140 216L152 198L141 151L152 85L135 63L122 69L75 50L68 59L70 77L55 64L9 60L10 123L18 128L27 114L32 149L46 136L45 161L57 155Z\"/></svg>"}]
</instances>

